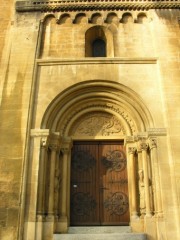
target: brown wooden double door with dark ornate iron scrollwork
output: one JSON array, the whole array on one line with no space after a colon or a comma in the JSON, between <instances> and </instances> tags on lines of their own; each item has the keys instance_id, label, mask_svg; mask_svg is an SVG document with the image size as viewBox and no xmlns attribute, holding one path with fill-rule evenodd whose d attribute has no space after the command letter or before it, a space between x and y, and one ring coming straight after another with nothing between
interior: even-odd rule
<instances>
[{"instance_id":1,"label":"brown wooden double door with dark ornate iron scrollwork","mask_svg":"<svg viewBox=\"0 0 180 240\"><path fill-rule=\"evenodd\" d=\"M128 225L127 161L121 142L75 142L71 226Z\"/></svg>"}]
</instances>

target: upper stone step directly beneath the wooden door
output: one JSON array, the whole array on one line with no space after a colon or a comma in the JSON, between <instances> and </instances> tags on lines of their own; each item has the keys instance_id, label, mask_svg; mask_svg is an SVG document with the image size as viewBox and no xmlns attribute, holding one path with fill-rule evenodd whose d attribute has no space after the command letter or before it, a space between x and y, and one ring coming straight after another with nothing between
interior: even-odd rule
<instances>
[{"instance_id":1,"label":"upper stone step directly beneath the wooden door","mask_svg":"<svg viewBox=\"0 0 180 240\"><path fill-rule=\"evenodd\" d=\"M92 226L92 227L69 227L68 233L130 233L130 226Z\"/></svg>"}]
</instances>

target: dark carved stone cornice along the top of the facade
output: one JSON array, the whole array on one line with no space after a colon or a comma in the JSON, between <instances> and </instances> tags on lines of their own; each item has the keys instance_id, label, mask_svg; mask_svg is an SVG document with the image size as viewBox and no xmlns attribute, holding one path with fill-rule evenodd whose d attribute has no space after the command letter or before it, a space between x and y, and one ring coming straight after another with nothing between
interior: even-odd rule
<instances>
[{"instance_id":1,"label":"dark carved stone cornice along the top of the facade","mask_svg":"<svg viewBox=\"0 0 180 240\"><path fill-rule=\"evenodd\" d=\"M61 0L17 1L16 11L94 11L180 9L179 0Z\"/></svg>"}]
</instances>

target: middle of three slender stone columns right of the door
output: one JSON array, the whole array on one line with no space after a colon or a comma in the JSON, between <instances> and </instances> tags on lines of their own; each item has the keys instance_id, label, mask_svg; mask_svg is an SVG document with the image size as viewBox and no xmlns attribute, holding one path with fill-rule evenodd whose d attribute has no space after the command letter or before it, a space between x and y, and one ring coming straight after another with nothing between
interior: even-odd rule
<instances>
[{"instance_id":1,"label":"middle of three slender stone columns right of the door","mask_svg":"<svg viewBox=\"0 0 180 240\"><path fill-rule=\"evenodd\" d=\"M144 175L144 187L145 187L145 202L146 202L146 217L151 217L151 205L150 205L150 191L149 191L149 174L148 174L148 158L147 149L148 144L141 142L142 149L142 161L143 161L143 175Z\"/></svg>"}]
</instances>

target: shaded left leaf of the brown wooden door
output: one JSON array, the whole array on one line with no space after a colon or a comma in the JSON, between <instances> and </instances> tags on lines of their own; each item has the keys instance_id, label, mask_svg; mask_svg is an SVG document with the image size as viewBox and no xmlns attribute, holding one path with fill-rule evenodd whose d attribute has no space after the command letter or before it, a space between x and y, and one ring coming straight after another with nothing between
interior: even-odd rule
<instances>
[{"instance_id":1,"label":"shaded left leaf of the brown wooden door","mask_svg":"<svg viewBox=\"0 0 180 240\"><path fill-rule=\"evenodd\" d=\"M71 225L99 224L97 159L97 145L74 145L71 162Z\"/></svg>"}]
</instances>

